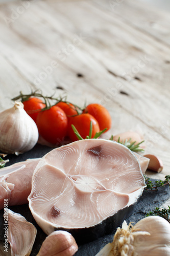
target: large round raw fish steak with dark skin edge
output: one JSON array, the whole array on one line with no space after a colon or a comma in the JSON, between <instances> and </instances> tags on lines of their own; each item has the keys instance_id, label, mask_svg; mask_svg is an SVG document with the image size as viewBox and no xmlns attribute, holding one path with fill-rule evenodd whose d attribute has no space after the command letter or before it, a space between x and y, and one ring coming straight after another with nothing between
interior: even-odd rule
<instances>
[{"instance_id":1,"label":"large round raw fish steak with dark skin edge","mask_svg":"<svg viewBox=\"0 0 170 256\"><path fill-rule=\"evenodd\" d=\"M57 229L74 233L104 225L120 209L134 205L144 187L139 162L126 146L87 139L55 148L41 158L28 200L46 234Z\"/></svg>"}]
</instances>

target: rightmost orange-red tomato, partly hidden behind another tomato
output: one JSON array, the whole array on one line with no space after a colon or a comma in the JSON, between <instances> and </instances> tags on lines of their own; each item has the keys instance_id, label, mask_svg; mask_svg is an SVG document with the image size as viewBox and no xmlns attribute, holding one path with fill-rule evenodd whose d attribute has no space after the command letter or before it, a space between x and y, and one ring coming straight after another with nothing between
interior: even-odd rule
<instances>
[{"instance_id":1,"label":"rightmost orange-red tomato, partly hidden behind another tomato","mask_svg":"<svg viewBox=\"0 0 170 256\"><path fill-rule=\"evenodd\" d=\"M101 131L107 128L107 132L111 128L111 116L103 105L98 103L89 104L86 106L83 113L92 115L98 121Z\"/></svg>"}]
</instances>

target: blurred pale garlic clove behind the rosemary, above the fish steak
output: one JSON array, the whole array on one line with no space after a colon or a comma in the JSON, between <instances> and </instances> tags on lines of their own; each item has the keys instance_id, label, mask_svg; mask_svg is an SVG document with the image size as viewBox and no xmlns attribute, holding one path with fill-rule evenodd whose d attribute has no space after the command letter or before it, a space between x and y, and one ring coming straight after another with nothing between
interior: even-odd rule
<instances>
[{"instance_id":1,"label":"blurred pale garlic clove behind the rosemary, above the fish steak","mask_svg":"<svg viewBox=\"0 0 170 256\"><path fill-rule=\"evenodd\" d=\"M136 141L135 144L140 143L143 140L140 134L133 131L119 133L113 136L113 140L115 141L118 141L118 138L120 138L120 142L131 139L131 142Z\"/></svg>"}]
</instances>

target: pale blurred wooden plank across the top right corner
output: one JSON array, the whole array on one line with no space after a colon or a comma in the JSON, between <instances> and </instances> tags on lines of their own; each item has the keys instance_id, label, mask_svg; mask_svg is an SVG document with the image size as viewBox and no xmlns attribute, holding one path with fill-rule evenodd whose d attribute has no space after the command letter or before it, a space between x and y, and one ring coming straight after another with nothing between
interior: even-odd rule
<instances>
[{"instance_id":1,"label":"pale blurred wooden plank across the top right corner","mask_svg":"<svg viewBox=\"0 0 170 256\"><path fill-rule=\"evenodd\" d=\"M102 9L108 10L110 15L124 20L124 22L131 24L138 30L150 34L156 40L170 46L170 16L168 11L158 9L148 3L133 0L94 0L93 3ZM167 62L169 62L168 56Z\"/></svg>"}]
</instances>

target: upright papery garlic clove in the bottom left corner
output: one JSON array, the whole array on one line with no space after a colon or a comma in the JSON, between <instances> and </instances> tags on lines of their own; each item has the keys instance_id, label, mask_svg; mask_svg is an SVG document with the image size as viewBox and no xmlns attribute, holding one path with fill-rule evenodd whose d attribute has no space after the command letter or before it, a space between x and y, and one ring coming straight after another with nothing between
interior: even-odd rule
<instances>
[{"instance_id":1,"label":"upright papery garlic clove in the bottom left corner","mask_svg":"<svg viewBox=\"0 0 170 256\"><path fill-rule=\"evenodd\" d=\"M8 209L8 242L11 256L29 256L37 229L20 214Z\"/></svg>"}]
</instances>

